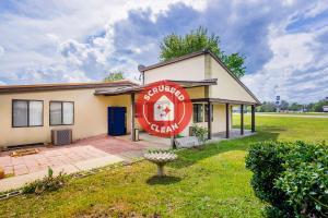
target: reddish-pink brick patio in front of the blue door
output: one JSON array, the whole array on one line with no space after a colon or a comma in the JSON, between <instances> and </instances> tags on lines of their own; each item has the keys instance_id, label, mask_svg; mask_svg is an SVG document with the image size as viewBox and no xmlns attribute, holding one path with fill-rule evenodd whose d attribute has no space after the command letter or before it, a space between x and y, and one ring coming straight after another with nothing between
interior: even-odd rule
<instances>
[{"instance_id":1,"label":"reddish-pink brick patio in front of the blue door","mask_svg":"<svg viewBox=\"0 0 328 218\"><path fill-rule=\"evenodd\" d=\"M40 153L23 157L10 157L10 152L0 153L0 166L7 175L21 175L38 172L66 165L114 155L124 160L142 156L144 149L150 147L164 147L161 144L147 142L131 142L128 137L113 137L101 135L77 141L67 146L37 147Z\"/></svg>"}]
</instances>

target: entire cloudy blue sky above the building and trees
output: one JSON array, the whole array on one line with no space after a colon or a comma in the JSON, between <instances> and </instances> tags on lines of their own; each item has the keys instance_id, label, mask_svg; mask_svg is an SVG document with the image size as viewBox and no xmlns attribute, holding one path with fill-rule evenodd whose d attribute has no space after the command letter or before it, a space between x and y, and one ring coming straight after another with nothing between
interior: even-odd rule
<instances>
[{"instance_id":1,"label":"entire cloudy blue sky above the building and trees","mask_svg":"<svg viewBox=\"0 0 328 218\"><path fill-rule=\"evenodd\" d=\"M198 26L241 52L261 100L328 96L328 1L0 1L0 84L102 80L159 61L171 33Z\"/></svg>"}]
</instances>

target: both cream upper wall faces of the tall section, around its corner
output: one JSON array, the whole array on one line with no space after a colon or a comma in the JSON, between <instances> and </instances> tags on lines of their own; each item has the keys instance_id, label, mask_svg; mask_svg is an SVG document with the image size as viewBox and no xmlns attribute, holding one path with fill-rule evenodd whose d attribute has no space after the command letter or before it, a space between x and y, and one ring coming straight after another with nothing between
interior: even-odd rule
<instances>
[{"instance_id":1,"label":"both cream upper wall faces of the tall section, around its corner","mask_svg":"<svg viewBox=\"0 0 328 218\"><path fill-rule=\"evenodd\" d=\"M209 53L144 72L145 84L162 80L201 81L206 78L218 78L218 84L209 87L207 97L256 102Z\"/></svg>"}]
</instances>

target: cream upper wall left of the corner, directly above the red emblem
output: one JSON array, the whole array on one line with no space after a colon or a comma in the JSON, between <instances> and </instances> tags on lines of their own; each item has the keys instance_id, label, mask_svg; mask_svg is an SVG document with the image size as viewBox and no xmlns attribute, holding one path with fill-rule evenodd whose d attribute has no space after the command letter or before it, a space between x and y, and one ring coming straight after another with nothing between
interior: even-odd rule
<instances>
[{"instance_id":1,"label":"cream upper wall left of the corner, directly above the red emblem","mask_svg":"<svg viewBox=\"0 0 328 218\"><path fill-rule=\"evenodd\" d=\"M163 80L201 81L204 80L204 56L183 60L144 72L144 83Z\"/></svg>"}]
</instances>

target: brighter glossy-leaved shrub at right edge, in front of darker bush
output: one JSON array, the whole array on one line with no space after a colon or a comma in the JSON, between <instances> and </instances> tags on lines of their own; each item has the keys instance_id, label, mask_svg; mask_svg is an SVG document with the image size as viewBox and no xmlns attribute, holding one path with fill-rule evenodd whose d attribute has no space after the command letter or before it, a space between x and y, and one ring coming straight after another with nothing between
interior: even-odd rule
<instances>
[{"instance_id":1,"label":"brighter glossy-leaved shrub at right edge, in front of darker bush","mask_svg":"<svg viewBox=\"0 0 328 218\"><path fill-rule=\"evenodd\" d=\"M296 142L276 186L289 196L297 215L328 216L328 147Z\"/></svg>"}]
</instances>

